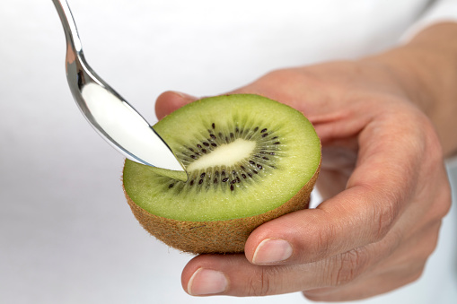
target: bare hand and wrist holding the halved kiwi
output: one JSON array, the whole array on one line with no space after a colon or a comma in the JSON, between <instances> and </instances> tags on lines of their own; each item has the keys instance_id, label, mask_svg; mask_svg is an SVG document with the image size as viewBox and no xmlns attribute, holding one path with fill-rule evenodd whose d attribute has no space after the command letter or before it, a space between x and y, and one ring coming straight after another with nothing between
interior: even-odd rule
<instances>
[{"instance_id":1,"label":"bare hand and wrist holding the halved kiwi","mask_svg":"<svg viewBox=\"0 0 457 304\"><path fill-rule=\"evenodd\" d=\"M244 255L196 256L184 290L342 301L417 280L451 206L444 159L457 151L455 37L457 23L441 23L377 56L278 70L233 91L284 102L312 121L324 201L254 230ZM157 116L193 100L164 92Z\"/></svg>"}]
</instances>

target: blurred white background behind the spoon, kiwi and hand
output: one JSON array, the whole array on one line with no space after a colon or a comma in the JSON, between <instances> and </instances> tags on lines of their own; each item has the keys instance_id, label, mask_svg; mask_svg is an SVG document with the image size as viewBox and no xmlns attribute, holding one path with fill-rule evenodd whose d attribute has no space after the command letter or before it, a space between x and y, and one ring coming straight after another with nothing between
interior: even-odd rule
<instances>
[{"instance_id":1,"label":"blurred white background behind the spoon, kiwi and hand","mask_svg":"<svg viewBox=\"0 0 457 304\"><path fill-rule=\"evenodd\" d=\"M92 68L154 123L154 99L162 91L230 91L277 67L328 59L336 49L349 58L380 51L408 26L391 12L395 29L374 29L368 36L357 22L387 12L380 5L363 20L344 21L339 30L351 33L345 38L338 30L321 35L303 27L301 21L314 18L321 30L330 29L337 18L324 13L328 3L321 1L312 12L291 6L298 4L293 0L70 4ZM341 4L336 11L365 3ZM76 108L64 56L51 1L2 1L0 303L305 302L300 293L204 299L182 291L180 272L191 256L150 237L130 213L121 189L123 158ZM453 303L457 266L448 261L455 255L454 223L444 222L440 250L425 278L369 302Z\"/></svg>"}]
</instances>

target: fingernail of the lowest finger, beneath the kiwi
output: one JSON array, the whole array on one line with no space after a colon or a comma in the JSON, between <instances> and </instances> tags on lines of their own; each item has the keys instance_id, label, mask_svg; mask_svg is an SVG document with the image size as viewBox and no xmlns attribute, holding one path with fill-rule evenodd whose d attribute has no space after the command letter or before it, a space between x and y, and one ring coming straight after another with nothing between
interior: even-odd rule
<instances>
[{"instance_id":1,"label":"fingernail of the lowest finger, beneath the kiwi","mask_svg":"<svg viewBox=\"0 0 457 304\"><path fill-rule=\"evenodd\" d=\"M192 296L216 294L227 289L228 281L224 273L199 268L189 280L188 292Z\"/></svg>"}]
</instances>

